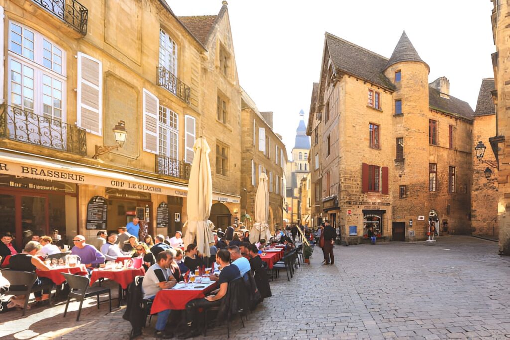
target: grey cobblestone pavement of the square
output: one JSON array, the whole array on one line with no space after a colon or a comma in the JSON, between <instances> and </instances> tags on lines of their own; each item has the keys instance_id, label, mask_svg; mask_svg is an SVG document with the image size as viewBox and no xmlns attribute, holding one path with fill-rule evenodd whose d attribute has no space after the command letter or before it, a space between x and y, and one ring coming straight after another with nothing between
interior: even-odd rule
<instances>
[{"instance_id":1,"label":"grey cobblestone pavement of the square","mask_svg":"<svg viewBox=\"0 0 510 340\"><path fill-rule=\"evenodd\" d=\"M510 337L510 257L498 256L494 242L446 237L433 245L336 246L334 251L334 266L320 266L322 252L316 248L312 264L301 266L291 282L283 276L272 282L273 297L249 315L244 328L233 322L231 337ZM93 300L87 306L79 322L75 311L63 319L62 305L31 310L25 318L19 311L2 314L0 336L129 338L123 309L109 313L106 303L98 311ZM152 332L146 328L143 338ZM208 338L226 338L225 333L217 327Z\"/></svg>"}]
</instances>

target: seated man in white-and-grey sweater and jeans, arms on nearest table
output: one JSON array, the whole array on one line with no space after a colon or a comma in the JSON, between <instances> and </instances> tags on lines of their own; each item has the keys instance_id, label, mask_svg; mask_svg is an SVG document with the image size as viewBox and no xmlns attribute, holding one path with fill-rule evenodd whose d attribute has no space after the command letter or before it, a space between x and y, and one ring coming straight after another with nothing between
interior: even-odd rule
<instances>
[{"instance_id":1,"label":"seated man in white-and-grey sweater and jeans, arms on nearest table","mask_svg":"<svg viewBox=\"0 0 510 340\"><path fill-rule=\"evenodd\" d=\"M142 291L143 298L152 300L156 294L162 289L170 289L177 281L173 277L170 266L173 262L173 256L170 251L161 251L157 257L158 263L150 266L145 277L143 278ZM156 336L163 338L173 337L172 332L165 331L168 316L171 309L165 309L158 313L158 321L156 322Z\"/></svg>"}]
</instances>

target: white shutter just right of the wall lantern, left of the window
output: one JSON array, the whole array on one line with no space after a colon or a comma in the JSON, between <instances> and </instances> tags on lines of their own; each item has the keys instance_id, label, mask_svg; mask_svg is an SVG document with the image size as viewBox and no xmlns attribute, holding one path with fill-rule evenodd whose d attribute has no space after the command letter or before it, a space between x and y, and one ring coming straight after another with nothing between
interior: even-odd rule
<instances>
[{"instance_id":1,"label":"white shutter just right of the wall lantern, left of the window","mask_svg":"<svg viewBox=\"0 0 510 340\"><path fill-rule=\"evenodd\" d=\"M143 89L143 150L158 153L159 99Z\"/></svg>"}]
</instances>

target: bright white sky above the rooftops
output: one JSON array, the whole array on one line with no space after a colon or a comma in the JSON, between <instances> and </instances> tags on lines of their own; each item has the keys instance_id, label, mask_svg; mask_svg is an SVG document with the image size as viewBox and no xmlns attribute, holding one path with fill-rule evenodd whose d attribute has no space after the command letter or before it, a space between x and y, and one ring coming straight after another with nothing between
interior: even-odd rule
<instances>
[{"instance_id":1,"label":"bright white sky above the rooftops","mask_svg":"<svg viewBox=\"0 0 510 340\"><path fill-rule=\"evenodd\" d=\"M167 0L177 16L213 15L220 0ZM405 30L430 66L429 82L476 107L482 78L493 77L490 0L227 0L239 82L276 133L294 147L299 110L308 120L319 81L324 32L391 57Z\"/></svg>"}]
</instances>

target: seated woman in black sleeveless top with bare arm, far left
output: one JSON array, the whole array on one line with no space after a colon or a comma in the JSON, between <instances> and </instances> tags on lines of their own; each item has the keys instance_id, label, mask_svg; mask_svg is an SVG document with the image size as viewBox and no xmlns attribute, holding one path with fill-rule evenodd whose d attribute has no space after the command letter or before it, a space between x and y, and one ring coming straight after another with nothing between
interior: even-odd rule
<instances>
[{"instance_id":1,"label":"seated woman in black sleeveless top with bare arm, far left","mask_svg":"<svg viewBox=\"0 0 510 340\"><path fill-rule=\"evenodd\" d=\"M43 261L35 254L41 250L42 246L39 242L30 241L25 245L22 254L13 255L9 261L9 269L17 270L22 272L31 272L35 273L36 269L47 271L49 268L44 264ZM52 283L47 277L38 277L35 281L33 287L48 285ZM15 286L11 286L11 290L16 290ZM37 304L43 304L48 302L50 290L44 289L43 291L35 292L35 300ZM17 297L16 299L12 299L11 303L8 305L9 308L19 306L22 307L24 305L25 297Z\"/></svg>"}]
</instances>

